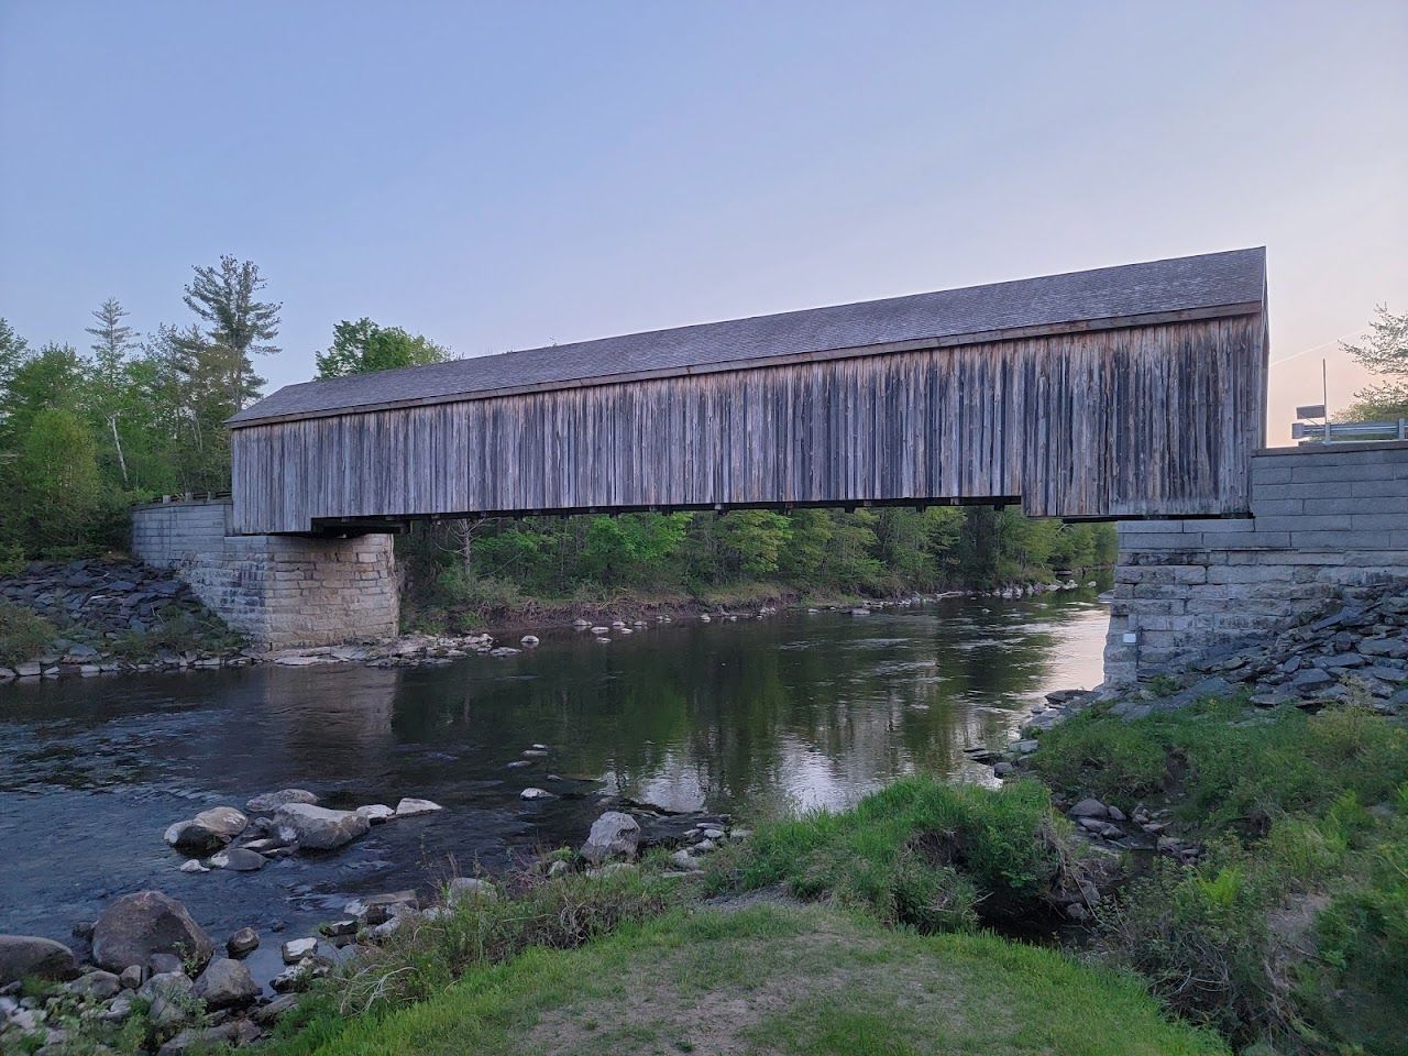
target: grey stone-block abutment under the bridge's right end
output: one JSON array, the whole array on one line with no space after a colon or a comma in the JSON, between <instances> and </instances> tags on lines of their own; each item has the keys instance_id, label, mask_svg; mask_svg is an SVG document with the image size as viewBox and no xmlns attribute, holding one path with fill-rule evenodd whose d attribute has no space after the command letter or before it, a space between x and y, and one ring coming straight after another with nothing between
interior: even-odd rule
<instances>
[{"instance_id":1,"label":"grey stone-block abutment under the bridge's right end","mask_svg":"<svg viewBox=\"0 0 1408 1056\"><path fill-rule=\"evenodd\" d=\"M1280 629L1335 596L1408 580L1408 444L1271 448L1252 459L1252 517L1131 521L1105 683Z\"/></svg>"}]
</instances>

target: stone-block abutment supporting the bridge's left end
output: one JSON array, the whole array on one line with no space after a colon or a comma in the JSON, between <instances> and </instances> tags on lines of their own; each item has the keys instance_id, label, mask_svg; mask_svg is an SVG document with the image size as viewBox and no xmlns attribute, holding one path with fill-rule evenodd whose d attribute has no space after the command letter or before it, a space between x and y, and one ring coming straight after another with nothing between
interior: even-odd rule
<instances>
[{"instance_id":1,"label":"stone-block abutment supporting the bridge's left end","mask_svg":"<svg viewBox=\"0 0 1408 1056\"><path fill-rule=\"evenodd\" d=\"M230 535L231 503L132 513L132 553L175 569L231 627L265 648L391 638L400 598L390 535Z\"/></svg>"}]
</instances>

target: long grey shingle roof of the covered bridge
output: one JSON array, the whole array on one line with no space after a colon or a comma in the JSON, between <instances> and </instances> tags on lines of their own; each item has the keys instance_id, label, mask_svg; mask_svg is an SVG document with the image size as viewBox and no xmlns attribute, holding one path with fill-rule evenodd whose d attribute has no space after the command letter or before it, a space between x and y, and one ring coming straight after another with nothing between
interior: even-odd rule
<instances>
[{"instance_id":1,"label":"long grey shingle roof of the covered bridge","mask_svg":"<svg viewBox=\"0 0 1408 1056\"><path fill-rule=\"evenodd\" d=\"M1250 304L1262 300L1264 287L1264 248L1233 249L304 382L251 404L230 424Z\"/></svg>"}]
</instances>

